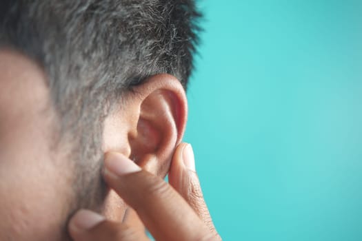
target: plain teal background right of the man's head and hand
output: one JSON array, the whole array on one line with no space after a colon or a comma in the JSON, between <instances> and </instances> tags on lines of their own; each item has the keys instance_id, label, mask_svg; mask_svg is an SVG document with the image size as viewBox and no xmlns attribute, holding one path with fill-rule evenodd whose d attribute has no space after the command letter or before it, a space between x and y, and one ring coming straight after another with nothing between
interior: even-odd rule
<instances>
[{"instance_id":1,"label":"plain teal background right of the man's head and hand","mask_svg":"<svg viewBox=\"0 0 362 241\"><path fill-rule=\"evenodd\" d=\"M185 141L224 240L362 240L362 1L199 2Z\"/></svg>"}]
</instances>

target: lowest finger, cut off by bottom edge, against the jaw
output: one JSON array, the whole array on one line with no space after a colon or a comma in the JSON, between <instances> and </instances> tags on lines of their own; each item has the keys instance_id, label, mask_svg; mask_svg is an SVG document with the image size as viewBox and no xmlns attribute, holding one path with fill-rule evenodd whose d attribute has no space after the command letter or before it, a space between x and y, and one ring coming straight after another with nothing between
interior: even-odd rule
<instances>
[{"instance_id":1,"label":"lowest finger, cut off by bottom edge, against the jaw","mask_svg":"<svg viewBox=\"0 0 362 241\"><path fill-rule=\"evenodd\" d=\"M69 222L68 230L74 241L145 241L141 232L126 224L105 220L98 213L79 210Z\"/></svg>"}]
</instances>

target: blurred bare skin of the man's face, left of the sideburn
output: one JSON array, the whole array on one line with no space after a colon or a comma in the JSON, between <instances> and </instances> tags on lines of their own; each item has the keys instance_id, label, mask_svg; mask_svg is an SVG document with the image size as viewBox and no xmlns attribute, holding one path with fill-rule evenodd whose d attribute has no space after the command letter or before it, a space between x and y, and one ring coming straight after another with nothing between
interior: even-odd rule
<instances>
[{"instance_id":1,"label":"blurred bare skin of the man's face, left of the sideburn","mask_svg":"<svg viewBox=\"0 0 362 241\"><path fill-rule=\"evenodd\" d=\"M29 59L0 52L0 240L63 236L70 174L50 148L54 112L44 80Z\"/></svg>"}]
</instances>

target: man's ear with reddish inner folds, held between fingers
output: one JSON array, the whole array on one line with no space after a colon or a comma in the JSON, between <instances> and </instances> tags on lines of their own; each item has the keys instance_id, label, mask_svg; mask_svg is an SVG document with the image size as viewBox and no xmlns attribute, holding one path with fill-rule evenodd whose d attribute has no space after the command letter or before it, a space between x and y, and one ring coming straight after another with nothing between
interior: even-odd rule
<instances>
[{"instance_id":1,"label":"man's ear with reddish inner folds, held between fingers","mask_svg":"<svg viewBox=\"0 0 362 241\"><path fill-rule=\"evenodd\" d=\"M181 142L188 104L181 83L169 74L151 76L105 119L103 151L119 151L137 165L165 176Z\"/></svg>"}]
</instances>

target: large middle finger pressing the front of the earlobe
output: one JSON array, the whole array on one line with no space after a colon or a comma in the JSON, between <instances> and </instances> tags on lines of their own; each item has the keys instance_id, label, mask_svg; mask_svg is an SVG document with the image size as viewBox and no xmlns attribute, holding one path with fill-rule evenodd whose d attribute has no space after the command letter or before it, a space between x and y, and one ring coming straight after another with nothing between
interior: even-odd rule
<instances>
[{"instance_id":1,"label":"large middle finger pressing the front of the earlobe","mask_svg":"<svg viewBox=\"0 0 362 241\"><path fill-rule=\"evenodd\" d=\"M105 158L103 176L141 218L156 240L203 240L210 231L187 202L161 178L119 153Z\"/></svg>"}]
</instances>

